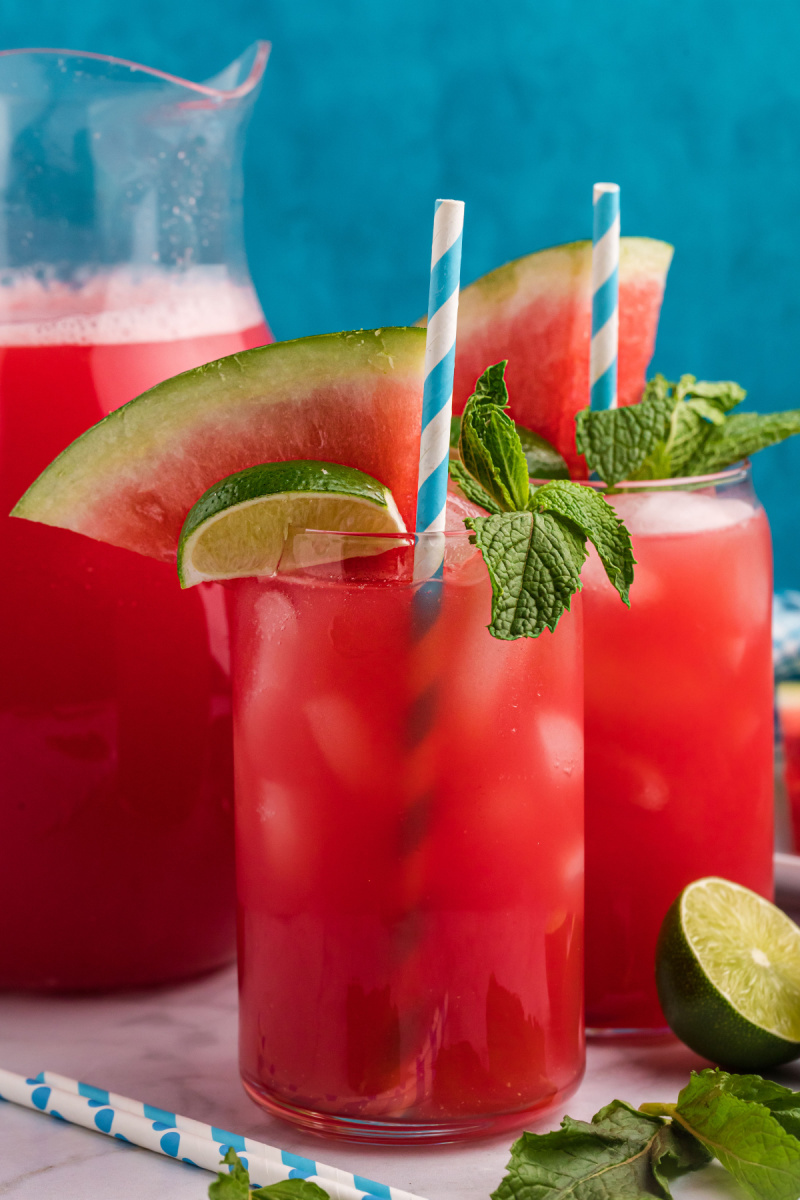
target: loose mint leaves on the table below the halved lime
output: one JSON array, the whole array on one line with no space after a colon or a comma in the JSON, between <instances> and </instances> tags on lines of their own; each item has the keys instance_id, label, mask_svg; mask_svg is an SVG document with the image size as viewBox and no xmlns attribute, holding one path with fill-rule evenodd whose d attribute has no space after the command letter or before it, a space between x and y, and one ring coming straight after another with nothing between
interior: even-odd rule
<instances>
[{"instance_id":1,"label":"loose mint leaves on the table below the halved lime","mask_svg":"<svg viewBox=\"0 0 800 1200\"><path fill-rule=\"evenodd\" d=\"M711 1162L756 1200L800 1195L800 1093L759 1075L692 1072L675 1104L612 1100L590 1122L524 1133L492 1200L669 1200L669 1181Z\"/></svg>"}]
</instances>

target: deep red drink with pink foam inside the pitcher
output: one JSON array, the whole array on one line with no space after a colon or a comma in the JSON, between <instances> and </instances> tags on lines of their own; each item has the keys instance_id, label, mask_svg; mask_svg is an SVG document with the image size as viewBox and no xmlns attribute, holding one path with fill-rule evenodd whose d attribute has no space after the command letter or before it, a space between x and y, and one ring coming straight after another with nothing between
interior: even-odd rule
<instances>
[{"instance_id":1,"label":"deep red drink with pink foam inside the pitcher","mask_svg":"<svg viewBox=\"0 0 800 1200\"><path fill-rule=\"evenodd\" d=\"M161 283L118 272L65 296L0 280L4 514L112 409L270 340L252 292L207 271ZM143 984L229 960L222 593L7 516L0 544L0 986Z\"/></svg>"}]
</instances>

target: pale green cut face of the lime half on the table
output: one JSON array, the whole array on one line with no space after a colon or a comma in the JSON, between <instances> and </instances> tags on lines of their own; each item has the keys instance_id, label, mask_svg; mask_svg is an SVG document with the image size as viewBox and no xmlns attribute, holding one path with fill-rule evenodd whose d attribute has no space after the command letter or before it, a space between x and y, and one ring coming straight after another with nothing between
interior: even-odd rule
<instances>
[{"instance_id":1,"label":"pale green cut face of the lime half on the table","mask_svg":"<svg viewBox=\"0 0 800 1200\"><path fill-rule=\"evenodd\" d=\"M681 901L688 943L720 995L753 1025L800 1042L800 929L769 900L700 880Z\"/></svg>"}]
</instances>

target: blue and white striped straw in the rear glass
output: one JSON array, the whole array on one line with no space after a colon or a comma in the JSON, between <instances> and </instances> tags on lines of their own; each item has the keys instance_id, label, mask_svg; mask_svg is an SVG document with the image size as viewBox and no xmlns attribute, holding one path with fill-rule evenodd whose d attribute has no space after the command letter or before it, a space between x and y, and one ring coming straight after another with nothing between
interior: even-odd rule
<instances>
[{"instance_id":1,"label":"blue and white striped straw in the rear glass","mask_svg":"<svg viewBox=\"0 0 800 1200\"><path fill-rule=\"evenodd\" d=\"M616 408L619 344L619 186L595 184L591 236L590 404Z\"/></svg>"}]
</instances>

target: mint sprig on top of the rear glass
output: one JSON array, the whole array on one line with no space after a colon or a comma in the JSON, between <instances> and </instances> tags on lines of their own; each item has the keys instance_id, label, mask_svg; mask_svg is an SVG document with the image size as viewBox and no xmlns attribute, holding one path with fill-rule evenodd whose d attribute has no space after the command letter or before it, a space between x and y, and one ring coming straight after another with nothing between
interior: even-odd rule
<instances>
[{"instance_id":1,"label":"mint sprig on top of the rear glass","mask_svg":"<svg viewBox=\"0 0 800 1200\"><path fill-rule=\"evenodd\" d=\"M637 404L576 416L576 448L608 485L621 480L710 475L800 433L800 409L732 413L746 392L736 383L681 376L650 379Z\"/></svg>"}]
</instances>

